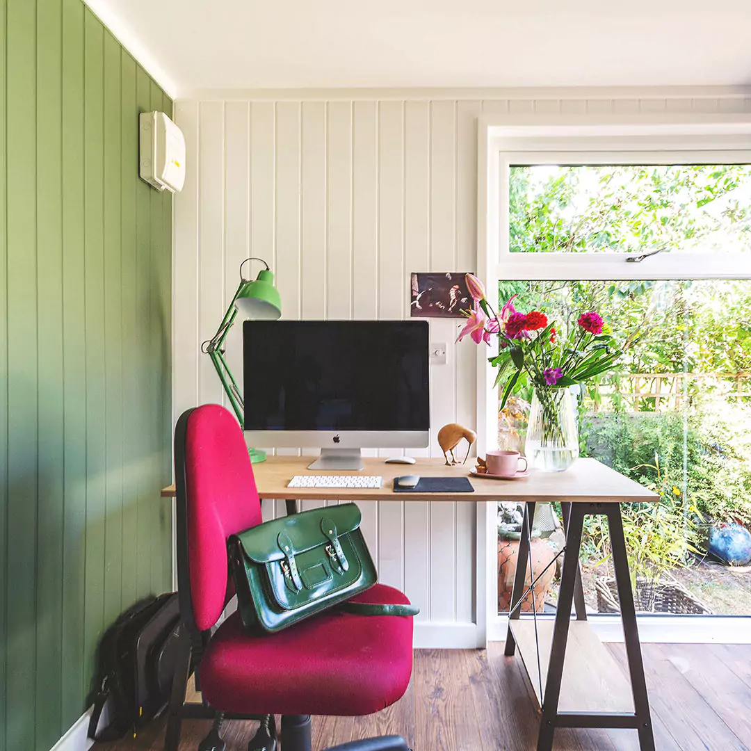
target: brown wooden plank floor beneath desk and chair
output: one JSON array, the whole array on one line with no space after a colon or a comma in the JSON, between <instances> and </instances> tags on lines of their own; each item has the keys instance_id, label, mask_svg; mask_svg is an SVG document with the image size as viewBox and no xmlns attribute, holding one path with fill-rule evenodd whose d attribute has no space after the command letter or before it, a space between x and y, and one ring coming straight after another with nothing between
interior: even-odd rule
<instances>
[{"instance_id":1,"label":"brown wooden plank floor beneath desk and chair","mask_svg":"<svg viewBox=\"0 0 751 751\"><path fill-rule=\"evenodd\" d=\"M608 644L624 672L622 644ZM751 751L751 645L644 644L644 667L658 751ZM228 722L228 751L246 751L253 722ZM207 722L183 724L180 751L196 751ZM538 713L532 687L503 645L484 650L418 650L401 701L367 717L314 717L313 748L360 737L402 734L415 751L534 749ZM164 725L96 751L161 751ZM637 751L633 730L559 730L554 749Z\"/></svg>"}]
</instances>

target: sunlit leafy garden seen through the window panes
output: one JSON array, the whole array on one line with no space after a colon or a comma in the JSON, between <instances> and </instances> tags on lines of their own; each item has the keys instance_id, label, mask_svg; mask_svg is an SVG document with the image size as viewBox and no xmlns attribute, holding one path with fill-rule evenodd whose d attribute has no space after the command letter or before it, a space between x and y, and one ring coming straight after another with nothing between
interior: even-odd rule
<instances>
[{"instance_id":1,"label":"sunlit leafy garden seen through the window panes","mask_svg":"<svg viewBox=\"0 0 751 751\"><path fill-rule=\"evenodd\" d=\"M512 167L510 193L511 252L751 248L747 165ZM556 321L598 311L623 350L613 371L571 391L581 456L660 496L623 506L638 610L751 615L751 282L681 280L676 259L667 281L499 282L499 305L514 295L517 309ZM519 385L499 411L501 448L523 448L532 389ZM500 526L513 519L513 505L499 508L499 612L515 565ZM535 514L535 574L562 547L559 519L555 504ZM587 519L582 575L588 609L616 611L604 517ZM538 611L555 608L557 576L553 565L541 579Z\"/></svg>"}]
</instances>

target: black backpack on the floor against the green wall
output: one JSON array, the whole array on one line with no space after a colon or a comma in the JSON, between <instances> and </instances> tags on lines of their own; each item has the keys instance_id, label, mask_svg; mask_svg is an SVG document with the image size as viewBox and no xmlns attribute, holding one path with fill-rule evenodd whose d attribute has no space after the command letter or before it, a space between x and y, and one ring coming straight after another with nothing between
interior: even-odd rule
<instances>
[{"instance_id":1,"label":"black backpack on the floor against the green wall","mask_svg":"<svg viewBox=\"0 0 751 751\"><path fill-rule=\"evenodd\" d=\"M177 657L177 594L148 597L128 608L104 632L98 650L98 692L89 737L133 737L167 706ZM104 704L110 722L97 734Z\"/></svg>"}]
</instances>

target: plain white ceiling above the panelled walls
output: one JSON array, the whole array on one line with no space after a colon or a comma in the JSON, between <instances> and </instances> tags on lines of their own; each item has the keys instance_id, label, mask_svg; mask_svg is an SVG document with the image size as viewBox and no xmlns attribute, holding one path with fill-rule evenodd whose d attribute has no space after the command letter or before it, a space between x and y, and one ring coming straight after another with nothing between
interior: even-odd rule
<instances>
[{"instance_id":1,"label":"plain white ceiling above the panelled walls","mask_svg":"<svg viewBox=\"0 0 751 751\"><path fill-rule=\"evenodd\" d=\"M87 2L179 94L751 83L751 0Z\"/></svg>"}]
</instances>

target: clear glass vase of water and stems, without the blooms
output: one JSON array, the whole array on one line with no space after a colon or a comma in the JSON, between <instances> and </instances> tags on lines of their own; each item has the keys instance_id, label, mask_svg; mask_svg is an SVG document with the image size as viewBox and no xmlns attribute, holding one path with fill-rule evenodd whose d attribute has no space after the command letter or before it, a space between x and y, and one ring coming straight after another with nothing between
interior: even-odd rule
<instances>
[{"instance_id":1,"label":"clear glass vase of water and stems, without the blooms","mask_svg":"<svg viewBox=\"0 0 751 751\"><path fill-rule=\"evenodd\" d=\"M579 456L579 433L572 394L567 388L537 388L526 429L529 466L563 472Z\"/></svg>"}]
</instances>

